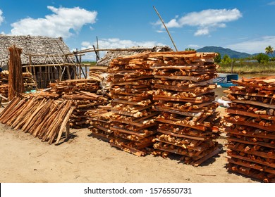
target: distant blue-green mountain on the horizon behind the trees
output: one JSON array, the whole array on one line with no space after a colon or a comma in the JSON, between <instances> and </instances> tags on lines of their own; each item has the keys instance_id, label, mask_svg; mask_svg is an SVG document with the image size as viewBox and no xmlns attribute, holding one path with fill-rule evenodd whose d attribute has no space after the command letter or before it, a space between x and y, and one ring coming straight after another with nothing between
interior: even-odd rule
<instances>
[{"instance_id":1,"label":"distant blue-green mountain on the horizon behind the trees","mask_svg":"<svg viewBox=\"0 0 275 197\"><path fill-rule=\"evenodd\" d=\"M221 58L224 57L224 55L228 55L230 58L247 58L249 56L252 56L249 53L241 53L238 51L233 51L231 49L225 49L220 46L204 46L201 49L197 49L197 52L216 52L221 54Z\"/></svg>"}]
</instances>

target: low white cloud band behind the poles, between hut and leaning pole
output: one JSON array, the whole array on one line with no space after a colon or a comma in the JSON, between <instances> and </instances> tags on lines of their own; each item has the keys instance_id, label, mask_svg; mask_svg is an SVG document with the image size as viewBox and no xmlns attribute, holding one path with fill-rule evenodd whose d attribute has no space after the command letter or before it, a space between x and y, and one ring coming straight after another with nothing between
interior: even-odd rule
<instances>
[{"instance_id":1,"label":"low white cloud band behind the poles, between hut and leaning pole","mask_svg":"<svg viewBox=\"0 0 275 197\"><path fill-rule=\"evenodd\" d=\"M118 48L130 48L133 46L140 46L140 47L148 47L151 48L153 46L164 46L164 44L160 42L154 41L145 41L145 42L135 42L128 39L118 39L118 38L109 38L109 39L99 39L99 49L118 49ZM81 50L84 49L92 49L92 45L97 46L97 42L82 42L81 43ZM100 52L100 57L104 56L106 51ZM96 59L94 53L87 53L85 58L87 59Z\"/></svg>"}]
</instances>

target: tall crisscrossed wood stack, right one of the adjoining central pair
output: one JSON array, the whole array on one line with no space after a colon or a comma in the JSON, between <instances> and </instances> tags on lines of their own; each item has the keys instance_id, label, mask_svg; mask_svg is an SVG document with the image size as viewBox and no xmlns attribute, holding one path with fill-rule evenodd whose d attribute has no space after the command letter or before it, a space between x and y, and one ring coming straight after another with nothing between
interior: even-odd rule
<instances>
[{"instance_id":1,"label":"tall crisscrossed wood stack, right one of the adjoining central pair","mask_svg":"<svg viewBox=\"0 0 275 197\"><path fill-rule=\"evenodd\" d=\"M149 55L154 61L154 109L161 112L154 155L176 153L184 163L198 166L219 153L214 141L219 136L214 56L196 51Z\"/></svg>"}]
</instances>

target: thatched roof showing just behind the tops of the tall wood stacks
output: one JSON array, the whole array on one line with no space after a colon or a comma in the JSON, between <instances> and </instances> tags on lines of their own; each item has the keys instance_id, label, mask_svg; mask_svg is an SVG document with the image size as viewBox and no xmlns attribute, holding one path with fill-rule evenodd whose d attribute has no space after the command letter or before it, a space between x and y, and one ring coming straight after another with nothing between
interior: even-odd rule
<instances>
[{"instance_id":1,"label":"thatched roof showing just behind the tops of the tall wood stacks","mask_svg":"<svg viewBox=\"0 0 275 197\"><path fill-rule=\"evenodd\" d=\"M101 58L97 65L100 66L109 66L109 63L118 56L131 56L136 53L143 53L145 51L152 51L152 52L161 52L161 51L173 51L169 46L154 46L151 50L139 49L138 47L133 50L131 48L130 51L108 51L103 58Z\"/></svg>"}]
</instances>

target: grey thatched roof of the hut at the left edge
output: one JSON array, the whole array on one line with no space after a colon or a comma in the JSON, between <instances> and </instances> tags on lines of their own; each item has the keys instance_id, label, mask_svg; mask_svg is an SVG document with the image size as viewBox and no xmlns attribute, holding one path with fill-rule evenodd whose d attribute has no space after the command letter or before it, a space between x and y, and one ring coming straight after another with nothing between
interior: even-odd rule
<instances>
[{"instance_id":1,"label":"grey thatched roof of the hut at the left edge","mask_svg":"<svg viewBox=\"0 0 275 197\"><path fill-rule=\"evenodd\" d=\"M23 49L21 61L23 65L29 64L29 57L25 54L43 54L43 55L59 55L63 53L70 53L70 49L63 42L61 37L51 38L42 36L10 36L0 34L0 65L7 65L8 62L8 47L16 45ZM43 63L56 63L59 60L46 60L43 56L36 56L32 58L32 64L43 64Z\"/></svg>"}]
</instances>

